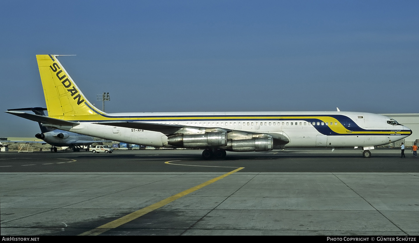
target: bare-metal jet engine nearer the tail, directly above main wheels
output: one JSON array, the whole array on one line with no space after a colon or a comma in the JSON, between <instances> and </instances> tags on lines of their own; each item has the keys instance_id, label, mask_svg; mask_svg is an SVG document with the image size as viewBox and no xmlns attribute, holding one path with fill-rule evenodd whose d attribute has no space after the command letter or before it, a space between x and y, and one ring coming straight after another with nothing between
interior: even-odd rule
<instances>
[{"instance_id":1,"label":"bare-metal jet engine nearer the tail, directly above main wheels","mask_svg":"<svg viewBox=\"0 0 419 243\"><path fill-rule=\"evenodd\" d=\"M227 145L227 133L179 134L168 137L167 143L176 147L189 148L222 147Z\"/></svg>"}]
</instances>

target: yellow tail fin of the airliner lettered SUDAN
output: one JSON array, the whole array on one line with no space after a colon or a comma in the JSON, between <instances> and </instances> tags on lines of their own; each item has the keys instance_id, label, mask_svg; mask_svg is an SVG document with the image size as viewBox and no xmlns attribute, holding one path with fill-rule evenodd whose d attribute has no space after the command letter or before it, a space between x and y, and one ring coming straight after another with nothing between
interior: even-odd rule
<instances>
[{"instance_id":1,"label":"yellow tail fin of the airliner lettered SUDAN","mask_svg":"<svg viewBox=\"0 0 419 243\"><path fill-rule=\"evenodd\" d=\"M58 55L36 55L48 116L77 120L75 116L105 114L94 107L83 95L70 75L57 60Z\"/></svg>"}]
</instances>

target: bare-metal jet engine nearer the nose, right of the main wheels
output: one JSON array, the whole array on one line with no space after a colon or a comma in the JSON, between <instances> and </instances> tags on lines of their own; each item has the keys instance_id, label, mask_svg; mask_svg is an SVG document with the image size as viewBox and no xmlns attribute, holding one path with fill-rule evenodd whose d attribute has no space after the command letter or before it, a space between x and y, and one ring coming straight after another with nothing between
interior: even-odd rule
<instances>
[{"instance_id":1,"label":"bare-metal jet engine nearer the nose, right of the main wheels","mask_svg":"<svg viewBox=\"0 0 419 243\"><path fill-rule=\"evenodd\" d=\"M270 151L274 149L274 140L272 137L229 140L227 147L222 149L233 152Z\"/></svg>"}]
</instances>

